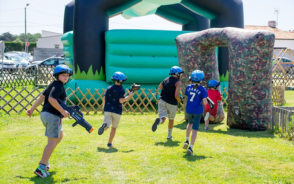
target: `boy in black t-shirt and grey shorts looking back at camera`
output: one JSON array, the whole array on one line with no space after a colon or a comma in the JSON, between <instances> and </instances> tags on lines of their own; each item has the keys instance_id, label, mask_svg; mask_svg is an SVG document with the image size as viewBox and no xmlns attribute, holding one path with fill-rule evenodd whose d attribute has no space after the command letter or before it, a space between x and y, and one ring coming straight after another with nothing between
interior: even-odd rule
<instances>
[{"instance_id":1,"label":"boy in black t-shirt and grey shorts looking back at camera","mask_svg":"<svg viewBox=\"0 0 294 184\"><path fill-rule=\"evenodd\" d=\"M73 72L68 66L64 64L57 65L53 74L56 80L51 82L51 84L46 87L34 105L26 111L26 114L31 117L36 107L38 107L44 100L40 118L46 127L45 136L48 137L48 142L44 148L39 167L34 172L41 178L46 178L50 175L48 173L50 167L49 158L63 137L62 119L60 115L68 117L69 112L64 110L56 99L59 98L66 102L66 90L64 88L64 84L69 81L69 76L72 74Z\"/></svg>"}]
</instances>

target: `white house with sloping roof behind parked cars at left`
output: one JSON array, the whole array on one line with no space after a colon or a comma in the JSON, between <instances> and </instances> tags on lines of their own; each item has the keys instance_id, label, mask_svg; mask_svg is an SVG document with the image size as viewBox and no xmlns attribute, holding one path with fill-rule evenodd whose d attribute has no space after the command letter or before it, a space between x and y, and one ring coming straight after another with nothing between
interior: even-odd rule
<instances>
[{"instance_id":1,"label":"white house with sloping roof behind parked cars at left","mask_svg":"<svg viewBox=\"0 0 294 184\"><path fill-rule=\"evenodd\" d=\"M61 33L42 30L42 37L38 38L37 48L63 49L61 36Z\"/></svg>"}]
</instances>

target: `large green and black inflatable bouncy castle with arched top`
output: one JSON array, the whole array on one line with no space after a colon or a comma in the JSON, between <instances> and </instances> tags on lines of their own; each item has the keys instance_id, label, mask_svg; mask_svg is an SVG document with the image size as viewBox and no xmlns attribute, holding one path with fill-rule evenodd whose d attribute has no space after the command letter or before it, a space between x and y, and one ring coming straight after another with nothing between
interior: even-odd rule
<instances>
[{"instance_id":1,"label":"large green and black inflatable bouncy castle with arched top","mask_svg":"<svg viewBox=\"0 0 294 184\"><path fill-rule=\"evenodd\" d=\"M125 18L156 14L182 25L184 32L108 31L109 18L118 14L122 14ZM64 35L62 37L62 42L65 45L65 63L74 68L74 78L68 86L71 88L79 86L82 91L85 91L86 88L105 88L111 82L109 76L118 69L126 76L134 76L128 77L126 82L129 83L139 83L141 78L138 76L141 76L142 73L148 74L150 71L156 71L155 76L162 77L162 80L168 76L171 66L178 65L177 54L174 54L176 52L174 40L179 34L188 31L201 31L210 27L226 26L243 28L243 4L241 0L72 1L65 8ZM134 38L133 34L136 32L136 38ZM117 40L113 40L111 35L116 34L119 36L116 37ZM152 36L154 37L152 38ZM149 37L151 38L148 39ZM140 42L140 40L143 41ZM121 42L124 46L128 46L127 48L130 50L117 54L119 49L123 48L118 47L119 44L122 44ZM140 48L148 48L149 46L147 50L150 52L140 52L138 49L132 50L138 45L143 45ZM161 52L154 53L152 47L156 45L161 45L162 47L156 48L166 50L166 52L163 52L166 55L162 55ZM116 48L116 50L114 51L113 48ZM114 52L109 52L109 49ZM116 59L121 59L121 62L111 62ZM168 59L171 62L166 62ZM124 62L125 64L123 64ZM227 81L228 50L226 47L219 49L218 62L221 81ZM119 65L116 66L116 64ZM158 81L159 79L150 77L144 82L146 86L142 86L141 82L140 84L142 87L148 88L152 84L152 88L155 88L159 84Z\"/></svg>"}]
</instances>

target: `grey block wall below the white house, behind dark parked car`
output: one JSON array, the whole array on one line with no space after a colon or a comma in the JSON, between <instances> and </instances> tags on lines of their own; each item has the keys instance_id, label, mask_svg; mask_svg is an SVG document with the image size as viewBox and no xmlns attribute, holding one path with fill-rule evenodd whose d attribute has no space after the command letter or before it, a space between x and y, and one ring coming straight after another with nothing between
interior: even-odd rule
<instances>
[{"instance_id":1,"label":"grey block wall below the white house, behind dark parked car","mask_svg":"<svg viewBox=\"0 0 294 184\"><path fill-rule=\"evenodd\" d=\"M63 54L63 49L34 48L34 61L42 61L57 54Z\"/></svg>"}]
</instances>

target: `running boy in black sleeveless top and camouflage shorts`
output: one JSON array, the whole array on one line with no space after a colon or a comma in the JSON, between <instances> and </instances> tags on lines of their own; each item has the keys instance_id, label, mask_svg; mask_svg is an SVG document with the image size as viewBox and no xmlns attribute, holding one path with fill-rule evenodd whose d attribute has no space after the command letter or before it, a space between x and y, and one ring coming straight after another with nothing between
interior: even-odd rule
<instances>
[{"instance_id":1,"label":"running boy in black sleeveless top and camouflage shorts","mask_svg":"<svg viewBox=\"0 0 294 184\"><path fill-rule=\"evenodd\" d=\"M180 76L185 71L180 67L171 67L170 75L164 79L158 86L161 89L160 99L158 102L158 116L152 125L152 131L155 132L159 124L163 124L168 118L168 136L167 139L173 139L171 133L173 132L173 121L176 117L178 102L180 99L181 81Z\"/></svg>"}]
</instances>

